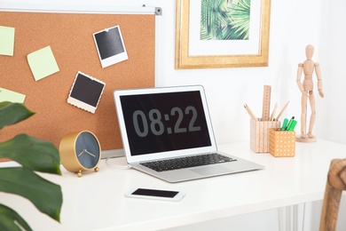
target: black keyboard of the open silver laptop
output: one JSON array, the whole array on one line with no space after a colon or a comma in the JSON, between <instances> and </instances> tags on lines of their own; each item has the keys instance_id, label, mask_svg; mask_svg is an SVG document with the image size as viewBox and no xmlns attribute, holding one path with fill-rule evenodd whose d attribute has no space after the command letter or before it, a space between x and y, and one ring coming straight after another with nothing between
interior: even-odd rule
<instances>
[{"instance_id":1,"label":"black keyboard of the open silver laptop","mask_svg":"<svg viewBox=\"0 0 346 231\"><path fill-rule=\"evenodd\" d=\"M220 155L217 153L205 154L205 155L191 155L184 156L180 158L153 161L153 162L145 162L140 163L147 168L150 168L154 171L170 171L177 169L185 169L190 167L198 167L208 164L215 163L225 163L237 161L229 156Z\"/></svg>"}]
</instances>

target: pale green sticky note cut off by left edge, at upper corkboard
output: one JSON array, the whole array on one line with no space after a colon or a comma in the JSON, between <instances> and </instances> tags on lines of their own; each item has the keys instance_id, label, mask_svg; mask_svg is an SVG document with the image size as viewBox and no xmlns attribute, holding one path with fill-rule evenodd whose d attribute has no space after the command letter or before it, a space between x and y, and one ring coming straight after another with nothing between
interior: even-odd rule
<instances>
[{"instance_id":1,"label":"pale green sticky note cut off by left edge, at upper corkboard","mask_svg":"<svg viewBox=\"0 0 346 231\"><path fill-rule=\"evenodd\" d=\"M13 56L14 28L0 26L0 54Z\"/></svg>"}]
</instances>

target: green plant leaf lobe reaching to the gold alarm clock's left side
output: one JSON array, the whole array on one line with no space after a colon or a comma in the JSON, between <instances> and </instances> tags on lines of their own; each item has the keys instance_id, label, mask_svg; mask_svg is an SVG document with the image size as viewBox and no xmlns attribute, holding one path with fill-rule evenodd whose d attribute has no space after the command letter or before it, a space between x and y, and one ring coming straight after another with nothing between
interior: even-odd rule
<instances>
[{"instance_id":1,"label":"green plant leaf lobe reaching to the gold alarm clock's left side","mask_svg":"<svg viewBox=\"0 0 346 231\"><path fill-rule=\"evenodd\" d=\"M27 134L0 143L0 158L10 158L33 171L61 175L58 149Z\"/></svg>"}]
</instances>

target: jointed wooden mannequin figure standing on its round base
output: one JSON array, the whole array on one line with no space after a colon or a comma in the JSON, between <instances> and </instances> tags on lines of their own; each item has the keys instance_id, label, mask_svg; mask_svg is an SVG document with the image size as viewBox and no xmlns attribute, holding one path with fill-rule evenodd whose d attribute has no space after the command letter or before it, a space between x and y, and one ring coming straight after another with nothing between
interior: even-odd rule
<instances>
[{"instance_id":1,"label":"jointed wooden mannequin figure standing on its round base","mask_svg":"<svg viewBox=\"0 0 346 231\"><path fill-rule=\"evenodd\" d=\"M316 101L313 91L313 82L312 75L313 72L316 72L318 79L318 94L320 97L324 97L322 92L322 78L321 72L319 69L318 62L313 62L312 56L314 52L313 45L309 44L305 48L306 60L303 63L298 64L298 71L296 76L296 83L299 90L302 92L302 116L301 116L301 134L297 136L296 141L298 142L315 142L316 137L312 135L313 125L316 120ZM302 73L304 73L303 84L301 82ZM311 117L309 124L309 131L306 132L306 123L307 123L307 103L311 106Z\"/></svg>"}]
</instances>

